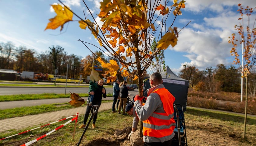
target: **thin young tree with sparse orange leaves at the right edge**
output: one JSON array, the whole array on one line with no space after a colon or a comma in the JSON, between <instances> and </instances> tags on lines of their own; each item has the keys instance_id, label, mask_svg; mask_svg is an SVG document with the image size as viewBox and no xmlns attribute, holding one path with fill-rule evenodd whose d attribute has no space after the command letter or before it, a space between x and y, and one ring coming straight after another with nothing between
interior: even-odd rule
<instances>
[{"instance_id":1,"label":"thin young tree with sparse orange leaves at the right edge","mask_svg":"<svg viewBox=\"0 0 256 146\"><path fill-rule=\"evenodd\" d=\"M239 25L235 25L235 30L239 36L236 36L236 33L232 34L232 37L229 37L229 43L232 43L233 47L231 48L231 55L234 56L234 64L238 64L242 77L246 79L246 93L245 93L245 117L244 117L244 138L246 134L246 119L247 119L247 99L248 99L248 75L250 74L250 70L255 67L256 63L256 51L255 51L255 43L256 43L256 17L252 19L251 15L253 14L253 10L256 8L250 8L247 6L244 8L241 4L238 4L238 11L241 14L241 17L238 20L241 21ZM244 23L244 14L246 14L246 22ZM244 44L243 54L242 54L242 63L239 58L239 50L240 45ZM238 49L237 49L238 47Z\"/></svg>"}]
</instances>

